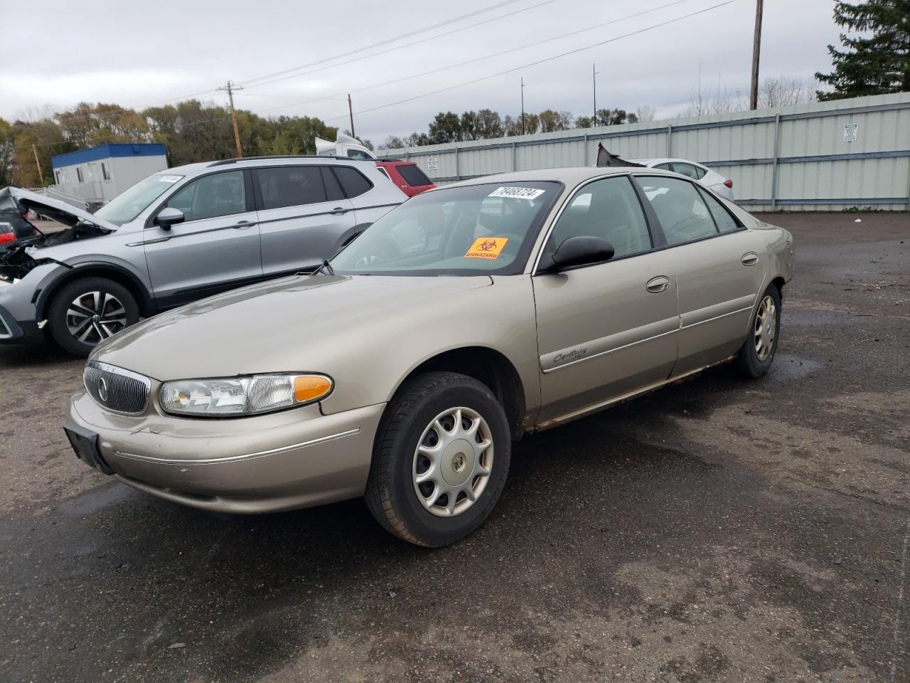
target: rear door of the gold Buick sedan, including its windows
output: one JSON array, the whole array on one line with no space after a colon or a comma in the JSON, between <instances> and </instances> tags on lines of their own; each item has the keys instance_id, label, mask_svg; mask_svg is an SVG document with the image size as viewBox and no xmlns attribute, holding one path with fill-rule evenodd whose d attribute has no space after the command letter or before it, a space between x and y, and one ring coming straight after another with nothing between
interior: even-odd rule
<instances>
[{"instance_id":1,"label":"rear door of the gold Buick sedan, including its windows","mask_svg":"<svg viewBox=\"0 0 910 683\"><path fill-rule=\"evenodd\" d=\"M762 286L757 240L696 184L665 176L635 179L658 219L679 287L673 375L719 362L743 343Z\"/></svg>"}]
</instances>

